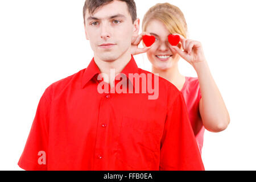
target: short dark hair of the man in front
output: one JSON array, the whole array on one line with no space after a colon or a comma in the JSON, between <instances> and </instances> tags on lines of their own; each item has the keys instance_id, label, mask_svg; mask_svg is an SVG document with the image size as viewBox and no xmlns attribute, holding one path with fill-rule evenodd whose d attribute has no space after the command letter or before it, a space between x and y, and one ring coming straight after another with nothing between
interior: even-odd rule
<instances>
[{"instance_id":1,"label":"short dark hair of the man in front","mask_svg":"<svg viewBox=\"0 0 256 182\"><path fill-rule=\"evenodd\" d=\"M84 23L85 23L85 11L88 9L89 14L93 14L99 7L108 5L108 3L114 0L86 0L84 3L83 15L84 15ZM131 20L134 21L137 19L137 9L134 0L118 0L126 2L128 7L128 11L131 15Z\"/></svg>"}]
</instances>

